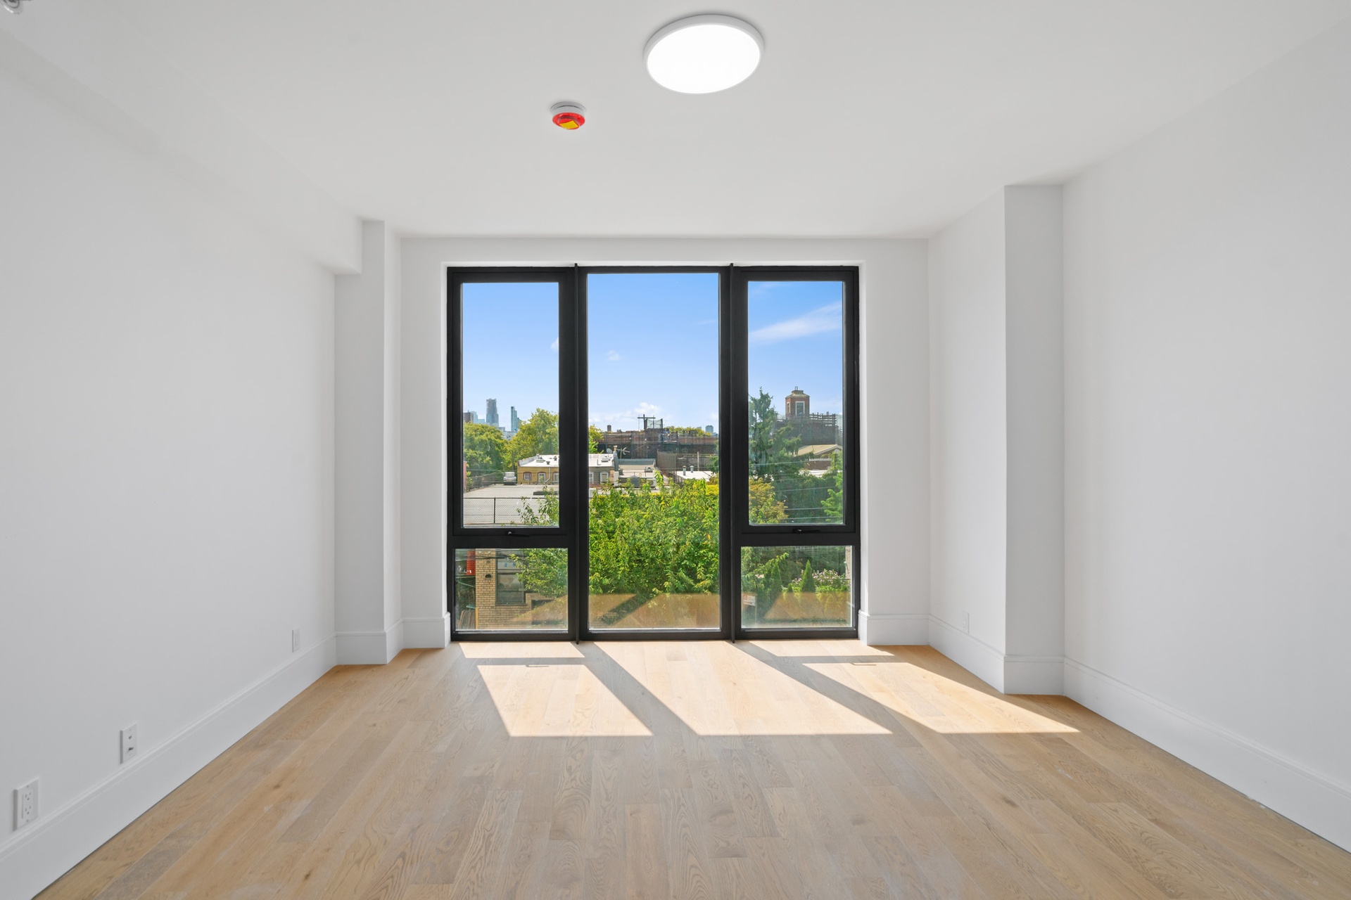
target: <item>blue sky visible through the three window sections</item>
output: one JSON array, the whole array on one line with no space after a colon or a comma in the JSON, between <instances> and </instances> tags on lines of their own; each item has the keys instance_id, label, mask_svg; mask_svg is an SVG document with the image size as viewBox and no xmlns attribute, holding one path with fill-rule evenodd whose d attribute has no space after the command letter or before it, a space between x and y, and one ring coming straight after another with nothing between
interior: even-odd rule
<instances>
[{"instance_id":1,"label":"blue sky visible through the three window sections","mask_svg":"<svg viewBox=\"0 0 1351 900\"><path fill-rule=\"evenodd\" d=\"M647 413L666 425L717 426L717 274L589 275L590 421L630 429ZM465 406L497 399L524 420L558 409L558 294L551 283L465 285ZM782 412L801 387L812 412L843 397L840 282L751 282L748 383Z\"/></svg>"}]
</instances>

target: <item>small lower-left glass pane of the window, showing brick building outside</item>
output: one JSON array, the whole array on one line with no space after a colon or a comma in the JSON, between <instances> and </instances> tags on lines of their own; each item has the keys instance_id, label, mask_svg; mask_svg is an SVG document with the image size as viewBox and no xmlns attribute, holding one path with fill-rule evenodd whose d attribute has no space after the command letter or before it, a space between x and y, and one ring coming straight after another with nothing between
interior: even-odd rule
<instances>
[{"instance_id":1,"label":"small lower-left glass pane of the window, showing brick building outside","mask_svg":"<svg viewBox=\"0 0 1351 900\"><path fill-rule=\"evenodd\" d=\"M455 551L461 631L567 629L567 551Z\"/></svg>"}]
</instances>

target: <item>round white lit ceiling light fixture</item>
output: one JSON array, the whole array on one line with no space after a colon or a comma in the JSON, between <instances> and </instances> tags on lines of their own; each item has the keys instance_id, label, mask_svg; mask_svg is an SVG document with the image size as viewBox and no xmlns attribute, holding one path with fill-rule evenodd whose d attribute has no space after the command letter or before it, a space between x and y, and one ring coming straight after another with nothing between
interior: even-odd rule
<instances>
[{"instance_id":1,"label":"round white lit ceiling light fixture","mask_svg":"<svg viewBox=\"0 0 1351 900\"><path fill-rule=\"evenodd\" d=\"M643 49L647 74L680 93L727 90L751 77L765 53L765 39L732 16L677 19Z\"/></svg>"}]
</instances>

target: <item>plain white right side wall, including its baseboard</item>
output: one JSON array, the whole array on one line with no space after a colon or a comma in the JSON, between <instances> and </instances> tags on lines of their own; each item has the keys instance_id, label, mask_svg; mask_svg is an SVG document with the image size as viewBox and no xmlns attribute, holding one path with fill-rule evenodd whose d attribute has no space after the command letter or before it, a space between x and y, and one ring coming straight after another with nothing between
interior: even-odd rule
<instances>
[{"instance_id":1,"label":"plain white right side wall, including its baseboard","mask_svg":"<svg viewBox=\"0 0 1351 900\"><path fill-rule=\"evenodd\" d=\"M1067 692L1351 847L1351 24L1066 188Z\"/></svg>"}]
</instances>

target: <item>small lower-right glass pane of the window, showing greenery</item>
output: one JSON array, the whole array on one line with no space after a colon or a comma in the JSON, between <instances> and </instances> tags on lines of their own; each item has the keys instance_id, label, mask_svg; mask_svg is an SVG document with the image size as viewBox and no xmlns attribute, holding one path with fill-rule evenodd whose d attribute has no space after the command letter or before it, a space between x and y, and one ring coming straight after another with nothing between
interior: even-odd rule
<instances>
[{"instance_id":1,"label":"small lower-right glass pane of the window, showing greenery","mask_svg":"<svg viewBox=\"0 0 1351 900\"><path fill-rule=\"evenodd\" d=\"M852 546L742 548L744 627L819 629L852 623Z\"/></svg>"}]
</instances>

